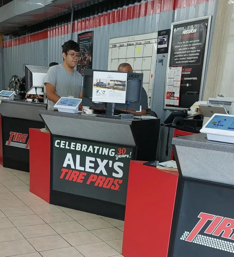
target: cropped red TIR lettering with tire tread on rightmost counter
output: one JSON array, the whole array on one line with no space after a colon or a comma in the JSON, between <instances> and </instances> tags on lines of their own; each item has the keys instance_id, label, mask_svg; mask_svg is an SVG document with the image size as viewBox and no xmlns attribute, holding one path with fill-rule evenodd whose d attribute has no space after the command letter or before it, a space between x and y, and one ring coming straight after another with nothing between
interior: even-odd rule
<instances>
[{"instance_id":1,"label":"cropped red TIR lettering with tire tread on rightmost counter","mask_svg":"<svg viewBox=\"0 0 234 257\"><path fill-rule=\"evenodd\" d=\"M185 231L180 240L234 253L234 219L204 212L201 212L198 215L198 218L200 218L200 220L192 231ZM200 234L200 231L205 226L207 227L206 230L203 234ZM217 238L220 236L221 238L228 239L230 241Z\"/></svg>"}]
</instances>

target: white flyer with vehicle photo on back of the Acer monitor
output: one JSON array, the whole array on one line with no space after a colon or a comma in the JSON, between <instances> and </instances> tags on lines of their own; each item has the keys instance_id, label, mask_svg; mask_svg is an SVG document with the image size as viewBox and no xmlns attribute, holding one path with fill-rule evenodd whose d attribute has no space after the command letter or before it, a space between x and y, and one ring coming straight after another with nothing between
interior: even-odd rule
<instances>
[{"instance_id":1,"label":"white flyer with vehicle photo on back of the Acer monitor","mask_svg":"<svg viewBox=\"0 0 234 257\"><path fill-rule=\"evenodd\" d=\"M93 102L126 103L127 73L93 73Z\"/></svg>"}]
</instances>

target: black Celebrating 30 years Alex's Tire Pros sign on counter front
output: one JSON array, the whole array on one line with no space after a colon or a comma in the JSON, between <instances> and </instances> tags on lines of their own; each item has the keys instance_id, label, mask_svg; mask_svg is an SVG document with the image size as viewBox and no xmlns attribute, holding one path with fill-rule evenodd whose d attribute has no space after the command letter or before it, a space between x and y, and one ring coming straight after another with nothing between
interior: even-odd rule
<instances>
[{"instance_id":1,"label":"black Celebrating 30 years Alex's Tire Pros sign on counter front","mask_svg":"<svg viewBox=\"0 0 234 257\"><path fill-rule=\"evenodd\" d=\"M54 137L53 190L125 205L133 150Z\"/></svg>"}]
</instances>

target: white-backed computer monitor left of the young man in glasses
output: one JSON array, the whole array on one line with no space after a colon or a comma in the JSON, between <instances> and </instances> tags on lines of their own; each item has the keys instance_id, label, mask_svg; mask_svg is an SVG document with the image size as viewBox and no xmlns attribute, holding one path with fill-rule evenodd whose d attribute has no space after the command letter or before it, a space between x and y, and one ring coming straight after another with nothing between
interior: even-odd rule
<instances>
[{"instance_id":1,"label":"white-backed computer monitor left of the young man in glasses","mask_svg":"<svg viewBox=\"0 0 234 257\"><path fill-rule=\"evenodd\" d=\"M26 93L32 95L44 95L44 78L50 67L25 65Z\"/></svg>"}]
</instances>

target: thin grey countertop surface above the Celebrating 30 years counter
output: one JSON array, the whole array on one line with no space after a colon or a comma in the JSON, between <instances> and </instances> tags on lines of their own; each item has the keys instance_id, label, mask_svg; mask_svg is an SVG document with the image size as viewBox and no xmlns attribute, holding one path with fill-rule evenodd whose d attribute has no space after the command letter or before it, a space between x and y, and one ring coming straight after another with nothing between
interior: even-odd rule
<instances>
[{"instance_id":1,"label":"thin grey countertop surface above the Celebrating 30 years counter","mask_svg":"<svg viewBox=\"0 0 234 257\"><path fill-rule=\"evenodd\" d=\"M117 123L117 124L129 124L131 125L132 121L123 121L119 119L111 119L111 118L102 118L89 115L81 115L81 113L72 114L72 113L60 113L58 111L39 111L39 114L49 115L49 116L57 116L57 117L64 117L64 118L73 118L73 119L80 119L80 120L88 120L88 121L101 121L101 122L108 122L108 123ZM134 120L134 121L142 121L142 120Z\"/></svg>"}]
</instances>

